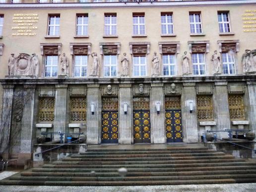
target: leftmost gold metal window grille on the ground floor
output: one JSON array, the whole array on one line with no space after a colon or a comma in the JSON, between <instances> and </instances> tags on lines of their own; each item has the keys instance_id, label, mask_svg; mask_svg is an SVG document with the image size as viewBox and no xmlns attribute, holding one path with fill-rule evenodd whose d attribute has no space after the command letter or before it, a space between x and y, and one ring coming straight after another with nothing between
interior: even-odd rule
<instances>
[{"instance_id":1,"label":"leftmost gold metal window grille on the ground floor","mask_svg":"<svg viewBox=\"0 0 256 192\"><path fill-rule=\"evenodd\" d=\"M39 122L52 123L54 121L54 97L40 97L39 99Z\"/></svg>"}]
</instances>

